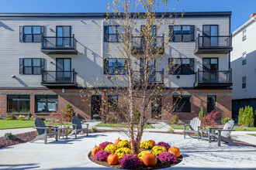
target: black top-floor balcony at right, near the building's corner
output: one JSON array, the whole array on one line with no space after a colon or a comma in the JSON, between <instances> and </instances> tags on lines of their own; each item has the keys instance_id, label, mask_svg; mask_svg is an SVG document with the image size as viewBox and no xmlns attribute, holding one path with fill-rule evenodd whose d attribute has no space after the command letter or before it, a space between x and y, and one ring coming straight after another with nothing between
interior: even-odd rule
<instances>
[{"instance_id":1,"label":"black top-floor balcony at right, near the building's corner","mask_svg":"<svg viewBox=\"0 0 256 170\"><path fill-rule=\"evenodd\" d=\"M227 54L233 50L231 36L198 36L195 54Z\"/></svg>"}]
</instances>

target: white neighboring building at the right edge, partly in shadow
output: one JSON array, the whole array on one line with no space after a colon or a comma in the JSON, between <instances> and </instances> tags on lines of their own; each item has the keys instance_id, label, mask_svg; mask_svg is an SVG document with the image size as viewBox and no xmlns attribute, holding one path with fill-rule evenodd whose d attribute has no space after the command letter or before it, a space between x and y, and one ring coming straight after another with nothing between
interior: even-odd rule
<instances>
[{"instance_id":1,"label":"white neighboring building at the right edge, partly in shadow","mask_svg":"<svg viewBox=\"0 0 256 170\"><path fill-rule=\"evenodd\" d=\"M233 73L232 110L237 117L241 107L256 110L256 13L232 34L231 53Z\"/></svg>"}]
</instances>

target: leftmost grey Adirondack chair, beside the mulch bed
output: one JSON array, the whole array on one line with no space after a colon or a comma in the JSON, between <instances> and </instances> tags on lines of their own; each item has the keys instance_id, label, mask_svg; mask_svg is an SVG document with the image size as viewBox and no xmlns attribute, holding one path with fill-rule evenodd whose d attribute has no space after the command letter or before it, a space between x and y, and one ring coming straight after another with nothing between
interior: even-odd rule
<instances>
[{"instance_id":1,"label":"leftmost grey Adirondack chair, beside the mulch bed","mask_svg":"<svg viewBox=\"0 0 256 170\"><path fill-rule=\"evenodd\" d=\"M31 143L33 143L34 141L43 139L44 144L47 144L47 137L52 136L52 135L55 135L55 139L57 141L57 133L58 133L57 132L57 127L46 126L44 124L44 122L39 117L36 117L35 125L36 125L36 127L33 127L33 128L36 128L38 136L36 136L36 138L34 138L33 141L31 141ZM47 128L54 128L54 131L53 132L48 132Z\"/></svg>"}]
</instances>

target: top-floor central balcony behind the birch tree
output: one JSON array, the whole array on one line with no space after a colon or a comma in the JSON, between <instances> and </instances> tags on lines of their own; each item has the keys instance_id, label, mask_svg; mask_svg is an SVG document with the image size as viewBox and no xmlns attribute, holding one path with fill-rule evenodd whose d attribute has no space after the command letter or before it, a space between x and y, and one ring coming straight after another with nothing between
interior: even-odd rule
<instances>
[{"instance_id":1,"label":"top-floor central balcony behind the birch tree","mask_svg":"<svg viewBox=\"0 0 256 170\"><path fill-rule=\"evenodd\" d=\"M164 35L156 36L153 42L150 42L150 53L164 53ZM145 39L142 36L132 36L132 48L131 53L143 54L145 50Z\"/></svg>"}]
</instances>

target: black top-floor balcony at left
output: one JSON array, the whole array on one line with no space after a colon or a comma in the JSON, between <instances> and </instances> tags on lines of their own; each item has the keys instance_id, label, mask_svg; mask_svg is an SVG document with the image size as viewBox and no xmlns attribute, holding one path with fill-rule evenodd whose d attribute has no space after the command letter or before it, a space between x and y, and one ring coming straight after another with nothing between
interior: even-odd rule
<instances>
[{"instance_id":1,"label":"black top-floor balcony at left","mask_svg":"<svg viewBox=\"0 0 256 170\"><path fill-rule=\"evenodd\" d=\"M71 37L43 36L41 51L45 54L78 54L77 40Z\"/></svg>"}]
</instances>

